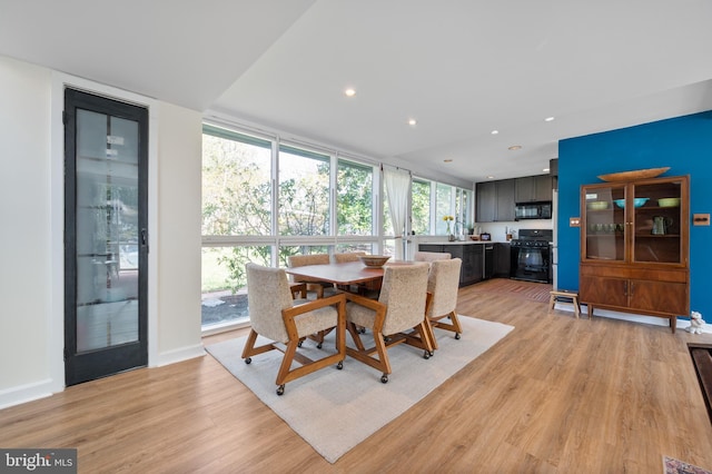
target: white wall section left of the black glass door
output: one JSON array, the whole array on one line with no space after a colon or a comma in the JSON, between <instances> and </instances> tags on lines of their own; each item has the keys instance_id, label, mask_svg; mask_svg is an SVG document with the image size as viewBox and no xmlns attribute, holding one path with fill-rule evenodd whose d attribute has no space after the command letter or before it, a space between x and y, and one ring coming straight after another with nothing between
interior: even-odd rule
<instances>
[{"instance_id":1,"label":"white wall section left of the black glass door","mask_svg":"<svg viewBox=\"0 0 712 474\"><path fill-rule=\"evenodd\" d=\"M0 406L44 391L51 304L50 71L0 57Z\"/></svg>"}]
</instances>

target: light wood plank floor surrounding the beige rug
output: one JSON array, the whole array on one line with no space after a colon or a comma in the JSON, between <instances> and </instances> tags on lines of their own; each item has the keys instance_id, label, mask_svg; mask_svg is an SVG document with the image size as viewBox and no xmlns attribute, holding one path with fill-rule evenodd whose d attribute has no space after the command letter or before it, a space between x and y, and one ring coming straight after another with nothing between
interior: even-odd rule
<instances>
[{"instance_id":1,"label":"light wood plank floor surrounding the beige rug","mask_svg":"<svg viewBox=\"0 0 712 474\"><path fill-rule=\"evenodd\" d=\"M712 468L686 347L712 335L474 288L458 312L515 329L334 465L210 356L0 411L0 446L77 447L82 473L659 473L663 455Z\"/></svg>"}]
</instances>

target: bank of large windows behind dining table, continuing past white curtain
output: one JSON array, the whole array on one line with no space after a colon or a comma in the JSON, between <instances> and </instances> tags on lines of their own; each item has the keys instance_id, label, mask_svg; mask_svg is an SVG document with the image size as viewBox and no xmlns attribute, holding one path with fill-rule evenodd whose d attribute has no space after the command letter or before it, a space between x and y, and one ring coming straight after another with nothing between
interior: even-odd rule
<instances>
[{"instance_id":1,"label":"bank of large windows behind dining table, continuing past white curtain","mask_svg":"<svg viewBox=\"0 0 712 474\"><path fill-rule=\"evenodd\" d=\"M287 266L290 255L363 250L394 255L378 166L205 125L202 327L248 322L245 264ZM472 191L413 179L411 226L445 235L444 215L466 221Z\"/></svg>"}]
</instances>

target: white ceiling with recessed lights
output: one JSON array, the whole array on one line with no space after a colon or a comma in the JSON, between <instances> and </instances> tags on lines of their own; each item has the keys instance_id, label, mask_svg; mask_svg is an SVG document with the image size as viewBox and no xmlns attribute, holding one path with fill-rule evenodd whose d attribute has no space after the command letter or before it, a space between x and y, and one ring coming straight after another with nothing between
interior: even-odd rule
<instances>
[{"instance_id":1,"label":"white ceiling with recessed lights","mask_svg":"<svg viewBox=\"0 0 712 474\"><path fill-rule=\"evenodd\" d=\"M0 55L479 181L712 109L710 24L710 0L0 0Z\"/></svg>"}]
</instances>

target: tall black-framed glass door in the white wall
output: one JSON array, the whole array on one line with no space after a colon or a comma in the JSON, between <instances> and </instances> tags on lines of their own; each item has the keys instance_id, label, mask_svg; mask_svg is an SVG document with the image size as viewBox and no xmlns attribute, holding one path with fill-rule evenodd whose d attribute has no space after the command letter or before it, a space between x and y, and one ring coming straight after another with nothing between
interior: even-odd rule
<instances>
[{"instance_id":1,"label":"tall black-framed glass door in the white wall","mask_svg":"<svg viewBox=\"0 0 712 474\"><path fill-rule=\"evenodd\" d=\"M148 110L65 90L65 374L148 364Z\"/></svg>"}]
</instances>

